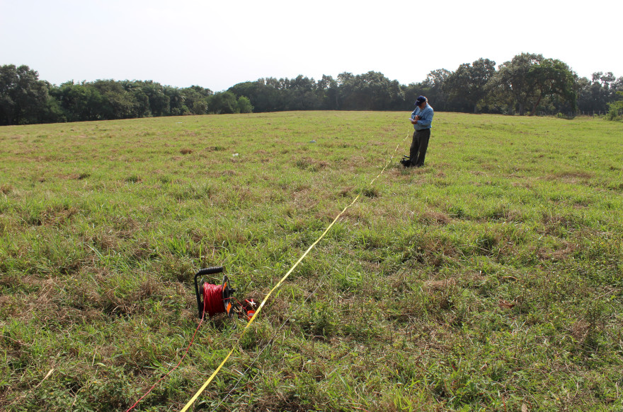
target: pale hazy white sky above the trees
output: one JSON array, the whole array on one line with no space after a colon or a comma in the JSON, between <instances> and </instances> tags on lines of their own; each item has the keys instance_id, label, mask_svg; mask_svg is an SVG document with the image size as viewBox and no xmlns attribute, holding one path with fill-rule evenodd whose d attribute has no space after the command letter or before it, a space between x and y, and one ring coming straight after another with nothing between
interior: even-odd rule
<instances>
[{"instance_id":1,"label":"pale hazy white sky above the trees","mask_svg":"<svg viewBox=\"0 0 623 412\"><path fill-rule=\"evenodd\" d=\"M401 84L522 52L623 76L623 1L0 0L0 66L53 84L152 80L213 91L380 71Z\"/></svg>"}]
</instances>

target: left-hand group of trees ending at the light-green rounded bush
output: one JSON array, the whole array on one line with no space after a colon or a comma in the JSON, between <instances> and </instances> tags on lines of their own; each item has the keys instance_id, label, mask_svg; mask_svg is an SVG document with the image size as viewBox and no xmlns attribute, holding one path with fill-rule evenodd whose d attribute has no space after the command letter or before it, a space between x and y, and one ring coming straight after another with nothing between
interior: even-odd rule
<instances>
[{"instance_id":1,"label":"left-hand group of trees ending at the light-green rounded bush","mask_svg":"<svg viewBox=\"0 0 623 412\"><path fill-rule=\"evenodd\" d=\"M183 114L249 113L251 102L201 86L97 80L55 86L28 66L0 67L0 125L134 119Z\"/></svg>"}]
</instances>

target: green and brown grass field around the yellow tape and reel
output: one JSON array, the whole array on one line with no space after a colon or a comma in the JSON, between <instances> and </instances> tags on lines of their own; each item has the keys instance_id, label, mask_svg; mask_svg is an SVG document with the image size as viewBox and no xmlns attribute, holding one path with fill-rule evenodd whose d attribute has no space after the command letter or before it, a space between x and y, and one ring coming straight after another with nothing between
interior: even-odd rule
<instances>
[{"instance_id":1,"label":"green and brown grass field around the yellow tape and reel","mask_svg":"<svg viewBox=\"0 0 623 412\"><path fill-rule=\"evenodd\" d=\"M135 410L235 346L193 410L623 411L623 124L440 112L405 170L407 117L0 127L0 409L124 411L188 346L198 269L261 300L362 193Z\"/></svg>"}]
</instances>

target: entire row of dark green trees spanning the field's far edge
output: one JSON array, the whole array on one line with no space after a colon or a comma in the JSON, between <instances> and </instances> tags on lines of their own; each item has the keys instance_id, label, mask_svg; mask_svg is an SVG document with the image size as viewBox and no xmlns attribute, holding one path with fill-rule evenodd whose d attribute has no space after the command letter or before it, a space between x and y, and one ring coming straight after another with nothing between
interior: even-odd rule
<instances>
[{"instance_id":1,"label":"entire row of dark green trees spanning the field's far edge","mask_svg":"<svg viewBox=\"0 0 623 412\"><path fill-rule=\"evenodd\" d=\"M0 67L0 124L76 122L135 117L278 112L285 110L409 110L425 95L438 111L497 114L623 114L623 77L579 77L558 59L522 53L496 68L490 59L437 69L402 85L383 73L340 73L319 80L260 78L213 93L154 81L98 80L55 86L28 66Z\"/></svg>"}]
</instances>

